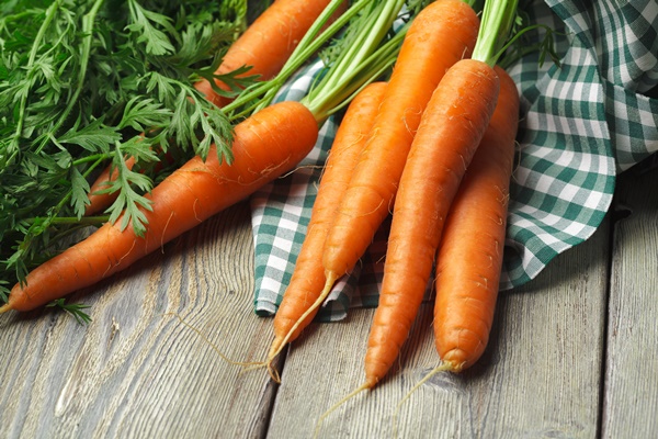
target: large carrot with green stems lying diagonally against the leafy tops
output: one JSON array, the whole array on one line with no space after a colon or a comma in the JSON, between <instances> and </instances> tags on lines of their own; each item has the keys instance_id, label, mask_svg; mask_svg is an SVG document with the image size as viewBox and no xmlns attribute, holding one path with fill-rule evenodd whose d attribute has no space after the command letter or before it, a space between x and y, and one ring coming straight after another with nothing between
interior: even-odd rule
<instances>
[{"instance_id":1,"label":"large carrot with green stems lying diagonally against the leafy tops","mask_svg":"<svg viewBox=\"0 0 658 439\"><path fill-rule=\"evenodd\" d=\"M331 0L325 15L333 13L341 3L342 0ZM375 80L386 66L393 64L390 60L395 59L399 38L385 42L384 38L402 3L404 0L356 2L319 41L303 40L298 46L300 50L293 53L285 71L272 81L263 82L257 92L252 90L227 105L227 113L232 114L231 109L261 97L259 106L263 108L260 111L251 108L239 113L239 116L246 115L247 120L234 128L234 158L230 164L219 162L213 150L205 162L200 157L193 158L152 190L152 212L141 212L147 224L146 236L136 236L129 224L123 228L118 226L123 223L122 218L104 225L90 238L29 273L26 283L14 286L9 303L0 307L0 312L41 306L125 269L168 240L291 170L311 150L318 136L318 126L349 104L356 90ZM368 4L372 8L364 10L364 5ZM351 56L340 57L328 68L316 85L317 94L307 94L300 102L273 105L260 94L263 91L275 93L328 34L332 34L360 11L365 11L366 18L376 23L363 26L361 20L351 22L358 26L352 44L358 45L360 50L350 50ZM326 81L328 78L330 82Z\"/></svg>"}]
</instances>

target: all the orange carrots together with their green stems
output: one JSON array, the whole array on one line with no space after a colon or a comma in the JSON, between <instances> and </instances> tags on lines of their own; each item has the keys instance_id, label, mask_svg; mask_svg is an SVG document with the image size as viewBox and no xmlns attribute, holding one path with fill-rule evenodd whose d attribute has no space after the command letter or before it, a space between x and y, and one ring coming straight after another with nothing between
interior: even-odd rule
<instances>
[{"instance_id":1,"label":"all the orange carrots together with their green stems","mask_svg":"<svg viewBox=\"0 0 658 439\"><path fill-rule=\"evenodd\" d=\"M198 85L242 121L235 126L232 160L222 162L216 154L193 158L148 195L152 209L144 211L144 236L122 227L121 221L105 224L33 270L0 312L33 309L91 285L245 199L293 169L314 146L318 126L349 104L296 270L274 318L266 363L311 322L390 213L365 381L351 395L374 387L387 374L434 267L434 329L444 369L458 372L477 361L498 292L514 153L517 89L496 63L517 1L487 0L480 22L468 2L435 0L394 37L389 30L404 0L345 3L274 2L238 41L235 59L231 52L227 55L235 63L230 68L251 63L252 74L271 79L232 102L222 83ZM302 102L271 104L277 88L358 16L356 31L348 33L353 41L308 95ZM282 44L298 44L272 50L282 21L291 26ZM265 31L272 35L263 36ZM242 44L250 35L258 43ZM271 54L275 60L259 65ZM394 63L389 78L374 82Z\"/></svg>"}]
</instances>

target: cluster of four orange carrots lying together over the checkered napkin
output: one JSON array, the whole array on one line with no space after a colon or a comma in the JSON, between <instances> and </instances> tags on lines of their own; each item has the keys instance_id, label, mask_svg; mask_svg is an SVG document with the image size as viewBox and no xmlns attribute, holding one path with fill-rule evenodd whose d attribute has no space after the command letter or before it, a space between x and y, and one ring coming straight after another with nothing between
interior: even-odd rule
<instances>
[{"instance_id":1,"label":"cluster of four orange carrots lying together over the checkered napkin","mask_svg":"<svg viewBox=\"0 0 658 439\"><path fill-rule=\"evenodd\" d=\"M389 214L365 380L348 398L390 370L434 269L440 370L460 372L481 356L498 293L519 117L515 85L497 67L515 11L514 0L487 0L480 22L467 2L432 2L408 29L386 83L352 102L274 317L269 364L311 322Z\"/></svg>"}]
</instances>

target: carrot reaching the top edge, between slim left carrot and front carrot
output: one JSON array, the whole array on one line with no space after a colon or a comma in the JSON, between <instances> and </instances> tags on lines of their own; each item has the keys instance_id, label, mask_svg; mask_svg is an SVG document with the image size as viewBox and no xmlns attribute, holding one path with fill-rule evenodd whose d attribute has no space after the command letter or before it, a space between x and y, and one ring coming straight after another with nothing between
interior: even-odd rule
<instances>
[{"instance_id":1,"label":"carrot reaching the top edge, between slim left carrot and front carrot","mask_svg":"<svg viewBox=\"0 0 658 439\"><path fill-rule=\"evenodd\" d=\"M349 272L393 207L420 117L445 71L469 56L479 22L460 0L438 0L407 32L388 88L325 248L327 272ZM349 243L345 245L345 243Z\"/></svg>"}]
</instances>

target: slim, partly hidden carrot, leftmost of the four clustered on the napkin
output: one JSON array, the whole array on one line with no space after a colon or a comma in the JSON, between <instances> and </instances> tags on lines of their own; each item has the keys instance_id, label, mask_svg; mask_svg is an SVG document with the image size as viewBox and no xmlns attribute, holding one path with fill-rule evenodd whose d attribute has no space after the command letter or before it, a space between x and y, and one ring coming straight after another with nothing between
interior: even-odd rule
<instances>
[{"instance_id":1,"label":"slim, partly hidden carrot, leftmost of the four clustered on the napkin","mask_svg":"<svg viewBox=\"0 0 658 439\"><path fill-rule=\"evenodd\" d=\"M350 103L336 133L295 270L274 316L275 339L271 353L279 349L288 331L322 292L326 282L325 268L321 264L325 239L333 222L336 207L363 150L385 90L386 82L373 82L363 89ZM299 336L318 309L303 320L287 341L293 341Z\"/></svg>"}]
</instances>

